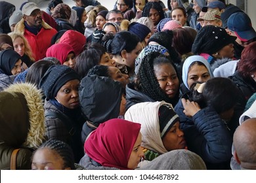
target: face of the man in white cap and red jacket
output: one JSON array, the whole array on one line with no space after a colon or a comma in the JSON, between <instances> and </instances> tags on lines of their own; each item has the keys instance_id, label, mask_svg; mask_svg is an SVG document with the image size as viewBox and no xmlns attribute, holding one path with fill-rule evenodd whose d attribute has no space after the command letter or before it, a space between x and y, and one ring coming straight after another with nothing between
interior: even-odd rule
<instances>
[{"instance_id":1,"label":"face of the man in white cap and red jacket","mask_svg":"<svg viewBox=\"0 0 256 183\"><path fill-rule=\"evenodd\" d=\"M24 15L23 18L31 27L41 27L42 25L42 12L39 9L33 10L30 16Z\"/></svg>"}]
</instances>

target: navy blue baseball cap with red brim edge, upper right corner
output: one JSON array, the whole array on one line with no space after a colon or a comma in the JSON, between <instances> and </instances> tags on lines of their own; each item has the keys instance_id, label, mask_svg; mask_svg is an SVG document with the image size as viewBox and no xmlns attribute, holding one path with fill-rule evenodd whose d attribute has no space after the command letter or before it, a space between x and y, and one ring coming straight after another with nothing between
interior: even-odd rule
<instances>
[{"instance_id":1,"label":"navy blue baseball cap with red brim edge, upper right corner","mask_svg":"<svg viewBox=\"0 0 256 183\"><path fill-rule=\"evenodd\" d=\"M251 19L244 12L236 12L228 18L228 29L234 31L241 41L248 41L256 37L251 25Z\"/></svg>"}]
</instances>

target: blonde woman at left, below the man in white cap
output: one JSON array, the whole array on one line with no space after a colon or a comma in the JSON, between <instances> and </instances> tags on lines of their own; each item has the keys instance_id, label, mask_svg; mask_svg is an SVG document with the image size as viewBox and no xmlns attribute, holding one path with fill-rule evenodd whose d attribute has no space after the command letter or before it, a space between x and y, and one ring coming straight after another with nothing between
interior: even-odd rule
<instances>
[{"instance_id":1,"label":"blonde woman at left, below the man in white cap","mask_svg":"<svg viewBox=\"0 0 256 183\"><path fill-rule=\"evenodd\" d=\"M27 39L19 33L12 32L9 33L9 35L12 38L14 51L20 54L23 63L25 63L27 67L30 67L35 59L32 56L32 50Z\"/></svg>"}]
</instances>

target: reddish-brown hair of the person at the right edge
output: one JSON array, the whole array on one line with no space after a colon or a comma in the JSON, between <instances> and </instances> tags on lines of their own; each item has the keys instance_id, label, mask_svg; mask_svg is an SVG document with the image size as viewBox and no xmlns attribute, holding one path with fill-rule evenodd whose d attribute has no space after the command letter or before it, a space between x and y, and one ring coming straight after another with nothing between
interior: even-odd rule
<instances>
[{"instance_id":1,"label":"reddish-brown hair of the person at the right edge","mask_svg":"<svg viewBox=\"0 0 256 183\"><path fill-rule=\"evenodd\" d=\"M251 74L256 71L256 42L251 42L246 46L238 61L238 72L244 78L251 78Z\"/></svg>"}]
</instances>

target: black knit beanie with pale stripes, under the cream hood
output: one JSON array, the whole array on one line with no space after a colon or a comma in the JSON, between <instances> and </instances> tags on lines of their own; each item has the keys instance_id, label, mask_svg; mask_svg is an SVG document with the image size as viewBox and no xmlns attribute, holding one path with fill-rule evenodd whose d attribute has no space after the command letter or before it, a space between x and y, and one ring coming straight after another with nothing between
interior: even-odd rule
<instances>
[{"instance_id":1,"label":"black knit beanie with pale stripes, under the cream hood","mask_svg":"<svg viewBox=\"0 0 256 183\"><path fill-rule=\"evenodd\" d=\"M180 119L170 105L161 105L158 110L158 116L161 138L163 139L163 137L165 137L166 133L171 129L171 127L176 122L179 122Z\"/></svg>"}]
</instances>

